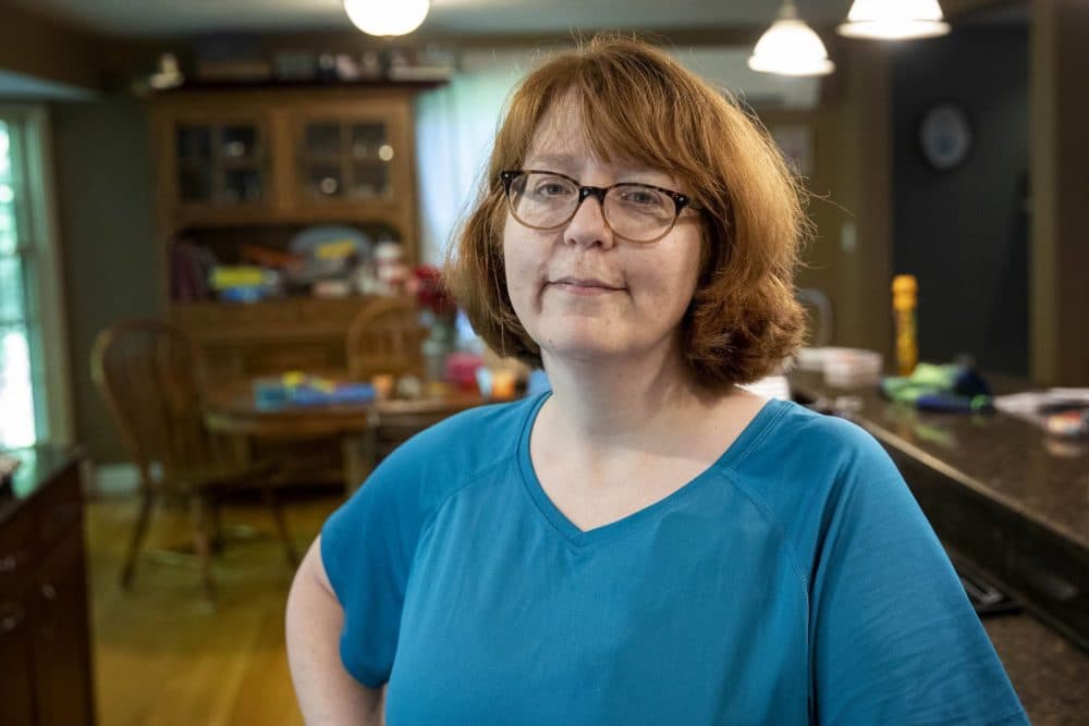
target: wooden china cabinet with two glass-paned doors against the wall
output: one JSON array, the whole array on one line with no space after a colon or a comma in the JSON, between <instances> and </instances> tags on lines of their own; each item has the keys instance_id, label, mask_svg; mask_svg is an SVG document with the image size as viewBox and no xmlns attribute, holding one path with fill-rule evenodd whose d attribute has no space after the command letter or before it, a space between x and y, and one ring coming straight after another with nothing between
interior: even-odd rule
<instances>
[{"instance_id":1,"label":"wooden china cabinet with two glass-paned doors against the wall","mask_svg":"<svg viewBox=\"0 0 1089 726\"><path fill-rule=\"evenodd\" d=\"M152 101L161 238L224 263L242 245L284 248L308 226L380 229L418 260L412 98L418 84L179 90ZM171 299L213 380L343 368L363 297Z\"/></svg>"}]
</instances>

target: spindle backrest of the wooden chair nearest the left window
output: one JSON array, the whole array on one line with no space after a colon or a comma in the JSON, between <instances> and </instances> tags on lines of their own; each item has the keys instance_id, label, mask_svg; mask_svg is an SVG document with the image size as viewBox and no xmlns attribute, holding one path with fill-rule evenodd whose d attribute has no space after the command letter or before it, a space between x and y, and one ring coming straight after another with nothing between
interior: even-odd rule
<instances>
[{"instance_id":1,"label":"spindle backrest of the wooden chair nearest the left window","mask_svg":"<svg viewBox=\"0 0 1089 726\"><path fill-rule=\"evenodd\" d=\"M158 320L113 324L96 339L90 368L145 483L152 464L170 482L218 458L204 424L199 354L182 330Z\"/></svg>"}]
</instances>

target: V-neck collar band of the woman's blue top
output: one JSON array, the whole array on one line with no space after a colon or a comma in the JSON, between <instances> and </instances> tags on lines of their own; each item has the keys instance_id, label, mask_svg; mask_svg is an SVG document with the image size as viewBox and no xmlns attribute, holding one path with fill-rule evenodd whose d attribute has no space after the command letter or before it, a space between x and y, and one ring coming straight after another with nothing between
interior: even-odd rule
<instances>
[{"instance_id":1,"label":"V-neck collar band of the woman's blue top","mask_svg":"<svg viewBox=\"0 0 1089 726\"><path fill-rule=\"evenodd\" d=\"M656 520L662 512L668 510L678 503L694 496L709 482L715 481L714 472L724 467L732 466L741 459L745 453L760 439L761 434L778 419L787 408L786 402L771 399L768 401L752 417L741 434L730 444L710 466L696 475L685 484L668 496L649 504L641 509L637 509L620 519L601 525L592 529L579 529L575 522L571 521L563 512L560 510L549 495L544 493L537 471L534 469L533 458L529 453L529 440L533 433L534 423L540 413L544 402L551 396L551 392L540 394L538 399L529 407L522 431L518 434L518 472L525 485L526 493L533 500L537 509L544 518L546 522L563 539L575 547L584 547L596 542L611 541L623 537L626 532L637 530L648 521Z\"/></svg>"}]
</instances>

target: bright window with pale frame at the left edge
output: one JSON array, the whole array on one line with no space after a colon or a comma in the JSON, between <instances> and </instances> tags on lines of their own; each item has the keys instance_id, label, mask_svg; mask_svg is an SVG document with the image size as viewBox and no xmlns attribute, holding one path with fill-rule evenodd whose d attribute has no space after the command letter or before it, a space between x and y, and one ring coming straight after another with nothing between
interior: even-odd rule
<instances>
[{"instance_id":1,"label":"bright window with pale frame at the left edge","mask_svg":"<svg viewBox=\"0 0 1089 726\"><path fill-rule=\"evenodd\" d=\"M46 138L42 109L0 107L0 450L70 439Z\"/></svg>"}]
</instances>

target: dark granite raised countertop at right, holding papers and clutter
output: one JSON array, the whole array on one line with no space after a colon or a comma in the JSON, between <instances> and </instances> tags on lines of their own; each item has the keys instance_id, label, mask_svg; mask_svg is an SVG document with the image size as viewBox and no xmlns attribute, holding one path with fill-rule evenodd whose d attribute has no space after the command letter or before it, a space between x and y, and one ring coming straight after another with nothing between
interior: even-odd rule
<instances>
[{"instance_id":1,"label":"dark granite raised countertop at right, holding papers and clutter","mask_svg":"<svg viewBox=\"0 0 1089 726\"><path fill-rule=\"evenodd\" d=\"M849 396L857 405L849 418L881 443L1089 553L1089 442L1057 440L1001 413L919 411L888 401L877 386L829 386L819 373L790 380L806 397Z\"/></svg>"}]
</instances>

